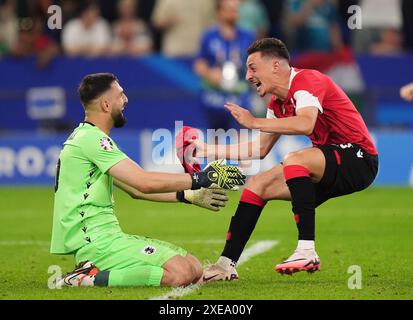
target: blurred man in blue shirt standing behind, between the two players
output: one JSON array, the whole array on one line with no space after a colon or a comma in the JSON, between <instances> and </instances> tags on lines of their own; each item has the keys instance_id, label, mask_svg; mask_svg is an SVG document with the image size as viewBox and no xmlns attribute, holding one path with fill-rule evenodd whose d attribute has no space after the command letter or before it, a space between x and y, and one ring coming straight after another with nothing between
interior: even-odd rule
<instances>
[{"instance_id":1,"label":"blurred man in blue shirt standing behind, between the two players","mask_svg":"<svg viewBox=\"0 0 413 320\"><path fill-rule=\"evenodd\" d=\"M250 90L243 79L247 48L254 41L252 33L237 26L238 0L219 0L216 3L218 24L204 33L195 72L203 80L201 104L208 128L239 127L224 108L228 101L250 106Z\"/></svg>"}]
</instances>

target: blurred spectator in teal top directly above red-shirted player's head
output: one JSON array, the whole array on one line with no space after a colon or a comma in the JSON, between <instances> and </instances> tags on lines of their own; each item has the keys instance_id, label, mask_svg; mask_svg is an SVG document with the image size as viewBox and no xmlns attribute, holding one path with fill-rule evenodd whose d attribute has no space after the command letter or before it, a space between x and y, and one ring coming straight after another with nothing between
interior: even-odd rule
<instances>
[{"instance_id":1,"label":"blurred spectator in teal top directly above red-shirted player's head","mask_svg":"<svg viewBox=\"0 0 413 320\"><path fill-rule=\"evenodd\" d=\"M270 22L263 4L259 0L241 0L238 25L254 33L257 39L266 37Z\"/></svg>"}]
</instances>

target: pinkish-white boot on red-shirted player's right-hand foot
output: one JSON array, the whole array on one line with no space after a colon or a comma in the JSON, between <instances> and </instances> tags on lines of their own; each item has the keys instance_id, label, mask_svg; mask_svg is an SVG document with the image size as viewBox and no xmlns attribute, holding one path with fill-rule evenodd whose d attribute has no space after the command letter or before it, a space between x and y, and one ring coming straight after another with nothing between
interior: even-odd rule
<instances>
[{"instance_id":1,"label":"pinkish-white boot on red-shirted player's right-hand foot","mask_svg":"<svg viewBox=\"0 0 413 320\"><path fill-rule=\"evenodd\" d=\"M277 264L275 271L288 275L299 271L313 273L320 270L320 265L320 258L314 249L297 249L287 260Z\"/></svg>"}]
</instances>

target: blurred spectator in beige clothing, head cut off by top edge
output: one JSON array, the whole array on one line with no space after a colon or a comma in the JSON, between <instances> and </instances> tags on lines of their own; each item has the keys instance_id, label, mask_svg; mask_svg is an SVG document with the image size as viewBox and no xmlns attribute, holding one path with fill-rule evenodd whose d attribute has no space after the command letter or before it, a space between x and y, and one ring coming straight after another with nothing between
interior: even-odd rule
<instances>
[{"instance_id":1,"label":"blurred spectator in beige clothing, head cut off by top edge","mask_svg":"<svg viewBox=\"0 0 413 320\"><path fill-rule=\"evenodd\" d=\"M214 0L157 0L152 22L162 30L162 53L168 57L194 56L213 17Z\"/></svg>"}]
</instances>

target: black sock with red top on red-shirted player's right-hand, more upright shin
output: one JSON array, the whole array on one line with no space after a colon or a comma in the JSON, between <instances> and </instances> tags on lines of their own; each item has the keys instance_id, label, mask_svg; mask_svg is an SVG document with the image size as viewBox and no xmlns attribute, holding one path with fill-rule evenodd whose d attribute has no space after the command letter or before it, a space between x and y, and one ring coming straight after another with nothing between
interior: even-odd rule
<instances>
[{"instance_id":1,"label":"black sock with red top on red-shirted player's right-hand, more upright shin","mask_svg":"<svg viewBox=\"0 0 413 320\"><path fill-rule=\"evenodd\" d=\"M315 239L315 189L310 171L299 165L284 167L284 177L290 189L298 240Z\"/></svg>"}]
</instances>

